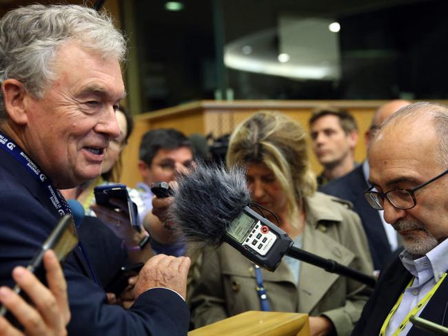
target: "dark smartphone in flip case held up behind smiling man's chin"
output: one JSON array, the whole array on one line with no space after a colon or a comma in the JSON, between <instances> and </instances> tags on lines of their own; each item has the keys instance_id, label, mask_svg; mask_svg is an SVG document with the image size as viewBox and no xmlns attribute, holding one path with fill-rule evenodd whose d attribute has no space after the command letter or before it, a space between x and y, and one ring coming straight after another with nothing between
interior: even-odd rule
<instances>
[{"instance_id":1,"label":"dark smartphone in flip case held up behind smiling man's chin","mask_svg":"<svg viewBox=\"0 0 448 336\"><path fill-rule=\"evenodd\" d=\"M108 207L114 210L120 209L116 205L109 202L110 198L123 200L126 204L128 204L130 223L136 231L141 232L139 211L137 210L136 204L132 202L131 198L129 197L128 189L125 185L100 185L98 187L95 187L93 192L96 204L103 205L104 207Z\"/></svg>"}]
</instances>

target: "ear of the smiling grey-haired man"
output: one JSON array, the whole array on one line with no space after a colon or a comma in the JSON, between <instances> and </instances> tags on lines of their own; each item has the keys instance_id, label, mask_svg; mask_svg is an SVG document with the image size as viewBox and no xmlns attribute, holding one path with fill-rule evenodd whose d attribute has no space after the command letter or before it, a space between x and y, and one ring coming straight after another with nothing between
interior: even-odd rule
<instances>
[{"instance_id":1,"label":"ear of the smiling grey-haired man","mask_svg":"<svg viewBox=\"0 0 448 336\"><path fill-rule=\"evenodd\" d=\"M16 79L8 78L1 83L3 101L6 113L10 119L18 125L28 123L26 114L26 97L28 96L23 84Z\"/></svg>"}]
</instances>

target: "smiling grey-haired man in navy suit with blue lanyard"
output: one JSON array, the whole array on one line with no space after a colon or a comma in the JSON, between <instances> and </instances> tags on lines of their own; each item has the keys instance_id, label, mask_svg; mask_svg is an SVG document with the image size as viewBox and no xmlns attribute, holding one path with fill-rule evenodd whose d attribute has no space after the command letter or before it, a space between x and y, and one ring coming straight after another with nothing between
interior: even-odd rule
<instances>
[{"instance_id":1,"label":"smiling grey-haired man in navy suit with blue lanyard","mask_svg":"<svg viewBox=\"0 0 448 336\"><path fill-rule=\"evenodd\" d=\"M125 39L110 18L83 6L18 8L0 31L0 282L12 286L12 267L28 264L70 212L57 189L99 176L119 136ZM64 268L69 335L185 335L189 266L188 258L148 260L125 311L107 303L80 246Z\"/></svg>"}]
</instances>

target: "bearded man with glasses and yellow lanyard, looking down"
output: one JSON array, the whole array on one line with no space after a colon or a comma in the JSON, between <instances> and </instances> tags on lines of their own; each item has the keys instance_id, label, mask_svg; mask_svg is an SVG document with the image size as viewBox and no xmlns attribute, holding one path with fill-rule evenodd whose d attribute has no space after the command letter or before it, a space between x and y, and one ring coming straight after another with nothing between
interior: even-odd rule
<instances>
[{"instance_id":1,"label":"bearded man with glasses and yellow lanyard, looking down","mask_svg":"<svg viewBox=\"0 0 448 336\"><path fill-rule=\"evenodd\" d=\"M353 335L428 335L410 318L448 325L448 107L400 109L378 130L369 163L365 198L405 250L381 272Z\"/></svg>"}]
</instances>

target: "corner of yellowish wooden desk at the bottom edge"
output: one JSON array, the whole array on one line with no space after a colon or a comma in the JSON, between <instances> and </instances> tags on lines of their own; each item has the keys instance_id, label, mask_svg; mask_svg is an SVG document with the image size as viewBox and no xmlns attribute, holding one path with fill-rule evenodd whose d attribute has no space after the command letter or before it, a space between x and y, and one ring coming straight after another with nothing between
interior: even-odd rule
<instances>
[{"instance_id":1,"label":"corner of yellowish wooden desk at the bottom edge","mask_svg":"<svg viewBox=\"0 0 448 336\"><path fill-rule=\"evenodd\" d=\"M308 336L307 314L247 311L190 331L188 336Z\"/></svg>"}]
</instances>

